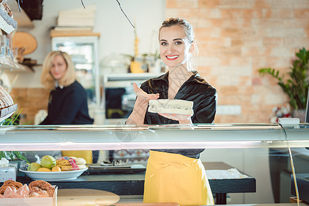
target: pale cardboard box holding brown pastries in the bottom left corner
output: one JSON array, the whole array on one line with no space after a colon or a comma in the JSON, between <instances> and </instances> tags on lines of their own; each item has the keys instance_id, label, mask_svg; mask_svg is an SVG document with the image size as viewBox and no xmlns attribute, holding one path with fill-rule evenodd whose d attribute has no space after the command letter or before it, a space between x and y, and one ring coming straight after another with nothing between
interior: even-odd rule
<instances>
[{"instance_id":1,"label":"pale cardboard box holding brown pastries in the bottom left corner","mask_svg":"<svg viewBox=\"0 0 309 206\"><path fill-rule=\"evenodd\" d=\"M49 197L49 198L0 198L0 205L1 206L16 206L16 205L57 206L57 193L58 193L58 187L55 187L54 197Z\"/></svg>"}]
</instances>

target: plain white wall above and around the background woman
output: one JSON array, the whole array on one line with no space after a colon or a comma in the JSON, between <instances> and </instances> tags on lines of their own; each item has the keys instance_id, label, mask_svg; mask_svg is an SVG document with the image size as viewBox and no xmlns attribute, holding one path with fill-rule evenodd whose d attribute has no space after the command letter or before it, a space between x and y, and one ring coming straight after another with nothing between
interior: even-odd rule
<instances>
[{"instance_id":1,"label":"plain white wall above and around the background woman","mask_svg":"<svg viewBox=\"0 0 309 206\"><path fill-rule=\"evenodd\" d=\"M95 27L93 32L100 32L99 60L110 54L134 54L134 29L119 8L117 1L84 0L84 5L95 4ZM155 53L157 50L157 32L165 19L165 0L130 0L121 1L122 9L137 28L139 54ZM42 63L45 56L52 51L52 39L49 32L56 26L60 10L82 8L81 1L45 0L43 1L43 18L34 20L34 29L17 28L30 32L36 37L36 51L25 57ZM41 68L36 73L21 73L14 87L42 87L40 83Z\"/></svg>"}]
</instances>

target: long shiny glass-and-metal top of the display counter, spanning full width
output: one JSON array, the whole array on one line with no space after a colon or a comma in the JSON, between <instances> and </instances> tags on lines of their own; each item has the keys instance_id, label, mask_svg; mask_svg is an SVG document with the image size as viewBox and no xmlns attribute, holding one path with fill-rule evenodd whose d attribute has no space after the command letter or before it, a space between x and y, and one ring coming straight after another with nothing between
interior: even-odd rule
<instances>
[{"instance_id":1,"label":"long shiny glass-and-metal top of the display counter, spanning full width","mask_svg":"<svg viewBox=\"0 0 309 206\"><path fill-rule=\"evenodd\" d=\"M192 135L194 134L194 135ZM5 150L309 147L309 124L1 126ZM87 137L87 138L85 138Z\"/></svg>"}]
</instances>

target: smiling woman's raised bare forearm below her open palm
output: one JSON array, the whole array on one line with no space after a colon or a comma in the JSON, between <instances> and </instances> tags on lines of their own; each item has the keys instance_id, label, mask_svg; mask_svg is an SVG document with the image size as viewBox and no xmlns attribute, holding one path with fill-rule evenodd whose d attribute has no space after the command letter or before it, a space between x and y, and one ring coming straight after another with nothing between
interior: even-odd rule
<instances>
[{"instance_id":1,"label":"smiling woman's raised bare forearm below her open palm","mask_svg":"<svg viewBox=\"0 0 309 206\"><path fill-rule=\"evenodd\" d=\"M147 106L147 100L140 100L139 98L137 98L133 111L126 120L126 124L144 124Z\"/></svg>"}]
</instances>

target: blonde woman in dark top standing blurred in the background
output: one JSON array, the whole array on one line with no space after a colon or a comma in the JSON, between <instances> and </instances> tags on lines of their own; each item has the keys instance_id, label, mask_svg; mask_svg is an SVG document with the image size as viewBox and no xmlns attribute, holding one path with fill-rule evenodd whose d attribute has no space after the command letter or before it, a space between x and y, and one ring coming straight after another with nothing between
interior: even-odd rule
<instances>
[{"instance_id":1,"label":"blonde woman in dark top standing blurred in the background","mask_svg":"<svg viewBox=\"0 0 309 206\"><path fill-rule=\"evenodd\" d=\"M89 117L87 94L76 81L71 56L65 52L50 52L44 62L41 83L49 89L48 115L41 124L93 124ZM91 150L62 151L62 156L82 157L93 163Z\"/></svg>"}]
</instances>

